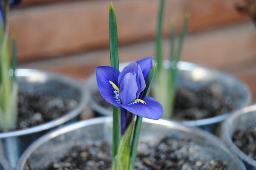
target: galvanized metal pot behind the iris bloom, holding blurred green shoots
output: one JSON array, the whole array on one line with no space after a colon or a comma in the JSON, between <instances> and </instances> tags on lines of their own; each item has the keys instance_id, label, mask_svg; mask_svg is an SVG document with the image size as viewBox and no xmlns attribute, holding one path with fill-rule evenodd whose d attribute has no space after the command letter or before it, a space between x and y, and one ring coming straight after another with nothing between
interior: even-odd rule
<instances>
[{"instance_id":1,"label":"galvanized metal pot behind the iris bloom, holding blurred green shoots","mask_svg":"<svg viewBox=\"0 0 256 170\"><path fill-rule=\"evenodd\" d=\"M120 68L122 69L126 65L127 63L121 64ZM166 69L170 68L169 61L164 61L163 65ZM233 77L230 74L189 62L179 62L177 67L179 69L179 75L177 80L178 87L200 89L209 86L209 84L215 83L219 88L223 88L227 98L232 99L232 102L235 106L234 111L237 111L240 108L249 105L251 102L252 95L247 85L245 85L243 82L241 82L241 80ZM95 92L97 92L98 88L95 75L92 75L88 82L91 86L91 93L94 94ZM102 107L93 99L90 102L90 106L100 115L112 115L111 110ZM177 122L185 126L200 127L201 129L216 133L215 131L218 127L218 124L227 119L232 114L232 112L207 119L184 120Z\"/></svg>"}]
</instances>

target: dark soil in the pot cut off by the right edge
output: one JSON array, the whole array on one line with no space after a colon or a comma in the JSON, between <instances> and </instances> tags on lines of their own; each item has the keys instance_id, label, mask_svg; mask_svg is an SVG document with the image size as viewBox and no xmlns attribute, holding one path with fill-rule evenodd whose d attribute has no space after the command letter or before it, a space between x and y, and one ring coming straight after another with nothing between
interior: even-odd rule
<instances>
[{"instance_id":1,"label":"dark soil in the pot cut off by the right edge","mask_svg":"<svg viewBox=\"0 0 256 170\"><path fill-rule=\"evenodd\" d=\"M232 140L240 150L256 160L256 126L236 131Z\"/></svg>"}]
</instances>

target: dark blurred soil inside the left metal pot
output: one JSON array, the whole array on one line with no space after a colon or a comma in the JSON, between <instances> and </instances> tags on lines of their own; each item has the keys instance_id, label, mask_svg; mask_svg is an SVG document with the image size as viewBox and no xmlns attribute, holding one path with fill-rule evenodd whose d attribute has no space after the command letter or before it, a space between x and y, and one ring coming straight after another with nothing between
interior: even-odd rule
<instances>
[{"instance_id":1,"label":"dark blurred soil inside the left metal pot","mask_svg":"<svg viewBox=\"0 0 256 170\"><path fill-rule=\"evenodd\" d=\"M39 91L19 91L17 129L43 124L57 119L77 106L75 100Z\"/></svg>"}]
</instances>

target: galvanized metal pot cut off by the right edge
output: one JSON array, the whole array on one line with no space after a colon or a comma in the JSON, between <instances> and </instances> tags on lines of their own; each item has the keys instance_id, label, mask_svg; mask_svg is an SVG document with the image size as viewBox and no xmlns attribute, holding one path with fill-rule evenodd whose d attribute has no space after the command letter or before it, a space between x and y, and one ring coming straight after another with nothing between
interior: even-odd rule
<instances>
[{"instance_id":1,"label":"galvanized metal pot cut off by the right edge","mask_svg":"<svg viewBox=\"0 0 256 170\"><path fill-rule=\"evenodd\" d=\"M222 137L224 141L230 150L244 161L247 170L256 170L256 160L241 151L232 142L232 136L237 130L246 130L248 127L253 126L256 126L256 105L251 105L237 111L222 125Z\"/></svg>"}]
</instances>

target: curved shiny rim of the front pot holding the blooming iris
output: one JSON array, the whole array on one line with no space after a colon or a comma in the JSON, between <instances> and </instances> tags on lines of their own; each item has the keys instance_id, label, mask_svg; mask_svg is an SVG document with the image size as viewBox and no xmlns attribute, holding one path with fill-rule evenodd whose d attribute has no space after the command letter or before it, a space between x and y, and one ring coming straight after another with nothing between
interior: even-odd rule
<instances>
[{"instance_id":1,"label":"curved shiny rim of the front pot holding the blooming iris","mask_svg":"<svg viewBox=\"0 0 256 170\"><path fill-rule=\"evenodd\" d=\"M108 123L108 122L112 122L112 117L100 117L100 118L83 120L80 122L73 123L71 125L66 125L65 127L53 130L52 132L49 132L49 133L45 134L44 136L41 136L35 142L33 142L21 155L21 158L18 161L16 170L22 170L22 168L24 167L24 164L25 164L25 160L28 159L29 156L33 153L33 151L36 150L36 148L38 148L44 142L47 142L48 140L53 139L54 137L59 136L61 134L64 134L64 133L67 133L67 132L70 132L73 130L77 130L82 127L99 124L99 123ZM228 155L230 155L232 160L239 162L240 166L242 167L241 170L246 170L245 166L241 162L241 160L239 160L230 150L227 149L226 144L223 141L221 141L220 139L218 139L218 137L212 135L211 133L207 133L206 131L203 131L203 130L200 130L200 129L194 128L194 127L186 127L179 123L171 122L171 121L163 120L163 119L152 120L152 119L144 118L143 122L153 123L156 125L163 125L163 126L166 126L167 128L182 130L182 131L185 131L188 133L194 133L194 135L197 135L204 139L207 139L207 141L211 142L212 144L215 144L215 145L218 144L218 147L220 147L222 150L224 150L226 153L228 153Z\"/></svg>"}]
</instances>

